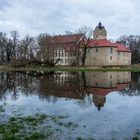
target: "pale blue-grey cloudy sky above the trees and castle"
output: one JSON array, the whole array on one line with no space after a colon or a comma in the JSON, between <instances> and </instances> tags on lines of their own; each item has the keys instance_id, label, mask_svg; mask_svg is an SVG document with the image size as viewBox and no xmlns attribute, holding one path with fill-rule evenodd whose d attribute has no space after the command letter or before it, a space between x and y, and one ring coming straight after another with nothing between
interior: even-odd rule
<instances>
[{"instance_id":1,"label":"pale blue-grey cloudy sky above the trees and castle","mask_svg":"<svg viewBox=\"0 0 140 140\"><path fill-rule=\"evenodd\" d=\"M101 21L108 38L140 35L140 0L0 0L0 31L64 34Z\"/></svg>"}]
</instances>

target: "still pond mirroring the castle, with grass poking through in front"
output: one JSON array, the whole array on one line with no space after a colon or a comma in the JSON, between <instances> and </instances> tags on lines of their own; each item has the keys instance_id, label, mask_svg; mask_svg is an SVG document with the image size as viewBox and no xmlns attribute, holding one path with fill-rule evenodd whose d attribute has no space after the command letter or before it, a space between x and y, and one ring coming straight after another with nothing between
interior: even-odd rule
<instances>
[{"instance_id":1,"label":"still pond mirroring the castle, with grass poking through in front","mask_svg":"<svg viewBox=\"0 0 140 140\"><path fill-rule=\"evenodd\" d=\"M0 139L139 139L140 73L0 72Z\"/></svg>"}]
</instances>

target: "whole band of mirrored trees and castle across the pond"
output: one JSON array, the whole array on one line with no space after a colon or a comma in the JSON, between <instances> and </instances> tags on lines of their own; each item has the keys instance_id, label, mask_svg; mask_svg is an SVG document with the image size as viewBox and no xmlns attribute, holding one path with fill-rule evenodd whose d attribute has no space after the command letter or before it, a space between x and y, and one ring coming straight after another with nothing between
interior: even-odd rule
<instances>
[{"instance_id":1,"label":"whole band of mirrored trees and castle across the pond","mask_svg":"<svg viewBox=\"0 0 140 140\"><path fill-rule=\"evenodd\" d=\"M0 73L0 100L6 98L8 92L15 100L20 91L26 96L36 94L50 102L64 98L74 99L81 106L94 103L100 110L106 102L107 94L112 91L121 91L123 95L138 95L139 91L139 86L131 84L128 87L131 82L130 72L57 72L41 76L30 75Z\"/></svg>"}]
</instances>

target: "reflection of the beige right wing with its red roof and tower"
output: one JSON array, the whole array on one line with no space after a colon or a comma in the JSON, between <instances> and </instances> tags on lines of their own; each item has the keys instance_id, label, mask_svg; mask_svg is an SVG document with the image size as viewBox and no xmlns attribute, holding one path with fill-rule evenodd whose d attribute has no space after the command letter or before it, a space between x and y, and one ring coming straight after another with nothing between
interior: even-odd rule
<instances>
[{"instance_id":1,"label":"reflection of the beige right wing with its red roof and tower","mask_svg":"<svg viewBox=\"0 0 140 140\"><path fill-rule=\"evenodd\" d=\"M121 91L131 82L131 72L89 72L85 73L88 93L93 94L93 102L98 110L104 106L106 95Z\"/></svg>"}]
</instances>

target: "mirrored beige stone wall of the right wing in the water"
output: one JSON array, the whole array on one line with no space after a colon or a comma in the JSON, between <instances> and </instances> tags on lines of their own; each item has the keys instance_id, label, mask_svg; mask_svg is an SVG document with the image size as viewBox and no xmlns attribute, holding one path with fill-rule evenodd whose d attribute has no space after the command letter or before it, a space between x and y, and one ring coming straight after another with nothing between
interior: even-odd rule
<instances>
[{"instance_id":1,"label":"mirrored beige stone wall of the right wing in the water","mask_svg":"<svg viewBox=\"0 0 140 140\"><path fill-rule=\"evenodd\" d=\"M131 82L131 72L88 72L85 77L87 86L100 88L117 87L118 84Z\"/></svg>"}]
</instances>

